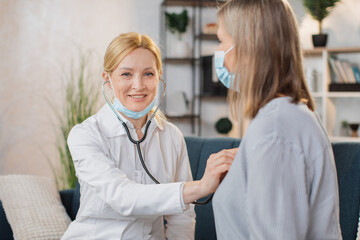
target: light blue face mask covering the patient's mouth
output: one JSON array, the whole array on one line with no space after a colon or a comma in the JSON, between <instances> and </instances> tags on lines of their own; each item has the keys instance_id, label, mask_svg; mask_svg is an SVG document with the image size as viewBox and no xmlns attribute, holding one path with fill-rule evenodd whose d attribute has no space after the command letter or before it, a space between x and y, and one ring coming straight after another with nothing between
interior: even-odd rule
<instances>
[{"instance_id":1,"label":"light blue face mask covering the patient's mouth","mask_svg":"<svg viewBox=\"0 0 360 240\"><path fill-rule=\"evenodd\" d=\"M234 74L230 74L227 68L224 66L225 55L230 52L234 47L229 48L226 52L216 51L215 52L215 71L220 82L224 84L225 87L231 88L234 83Z\"/></svg>"}]
</instances>

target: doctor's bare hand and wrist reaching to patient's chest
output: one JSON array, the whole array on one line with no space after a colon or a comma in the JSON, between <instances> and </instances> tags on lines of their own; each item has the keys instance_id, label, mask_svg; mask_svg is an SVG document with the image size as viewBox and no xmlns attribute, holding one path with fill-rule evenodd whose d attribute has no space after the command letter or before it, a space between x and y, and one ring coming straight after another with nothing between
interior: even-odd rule
<instances>
[{"instance_id":1,"label":"doctor's bare hand and wrist reaching to patient's chest","mask_svg":"<svg viewBox=\"0 0 360 240\"><path fill-rule=\"evenodd\" d=\"M191 203L215 192L221 180L229 171L237 151L238 148L233 148L211 154L207 160L205 173L201 180L184 184L184 203Z\"/></svg>"}]
</instances>

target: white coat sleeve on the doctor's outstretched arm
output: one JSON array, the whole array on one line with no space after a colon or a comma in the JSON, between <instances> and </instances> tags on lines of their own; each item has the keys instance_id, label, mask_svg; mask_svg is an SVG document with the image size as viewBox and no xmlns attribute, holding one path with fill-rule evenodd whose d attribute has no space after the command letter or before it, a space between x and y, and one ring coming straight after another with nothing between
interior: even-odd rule
<instances>
[{"instance_id":1,"label":"white coat sleeve on the doctor's outstretched arm","mask_svg":"<svg viewBox=\"0 0 360 240\"><path fill-rule=\"evenodd\" d=\"M77 177L123 216L154 216L182 213L181 182L143 185L131 181L105 153L96 132L73 128L68 145ZM124 197L126 196L126 197Z\"/></svg>"}]
</instances>

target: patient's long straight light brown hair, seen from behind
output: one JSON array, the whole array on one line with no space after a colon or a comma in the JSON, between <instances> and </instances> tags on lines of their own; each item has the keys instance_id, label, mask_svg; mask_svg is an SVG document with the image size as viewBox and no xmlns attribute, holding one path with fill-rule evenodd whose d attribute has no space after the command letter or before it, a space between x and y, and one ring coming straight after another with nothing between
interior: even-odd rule
<instances>
[{"instance_id":1,"label":"patient's long straight light brown hair, seen from behind","mask_svg":"<svg viewBox=\"0 0 360 240\"><path fill-rule=\"evenodd\" d=\"M232 36L234 88L229 90L233 117L253 119L279 95L315 110L306 85L297 22L286 0L230 0L218 20Z\"/></svg>"}]
</instances>

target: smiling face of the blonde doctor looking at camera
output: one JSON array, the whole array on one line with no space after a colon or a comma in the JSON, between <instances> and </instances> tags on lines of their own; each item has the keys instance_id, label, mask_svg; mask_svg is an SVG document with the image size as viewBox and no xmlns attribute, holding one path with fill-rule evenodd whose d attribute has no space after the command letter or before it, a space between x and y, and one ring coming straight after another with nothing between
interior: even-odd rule
<instances>
[{"instance_id":1,"label":"smiling face of the blonde doctor looking at camera","mask_svg":"<svg viewBox=\"0 0 360 240\"><path fill-rule=\"evenodd\" d=\"M140 112L154 100L160 78L157 69L155 55L137 48L110 73L115 95L124 107Z\"/></svg>"}]
</instances>

